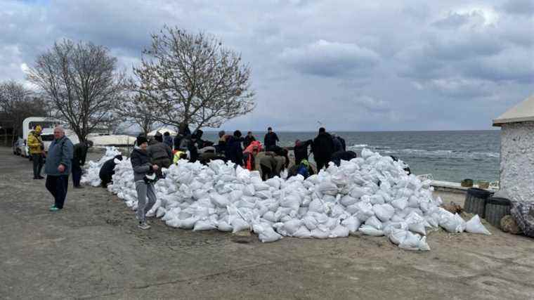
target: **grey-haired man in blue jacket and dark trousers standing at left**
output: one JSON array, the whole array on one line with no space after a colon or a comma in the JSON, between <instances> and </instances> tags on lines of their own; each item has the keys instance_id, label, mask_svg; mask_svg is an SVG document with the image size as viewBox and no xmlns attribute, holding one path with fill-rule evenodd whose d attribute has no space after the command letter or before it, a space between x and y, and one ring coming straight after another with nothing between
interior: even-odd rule
<instances>
[{"instance_id":1,"label":"grey-haired man in blue jacket and dark trousers standing at left","mask_svg":"<svg viewBox=\"0 0 534 300\"><path fill-rule=\"evenodd\" d=\"M61 126L54 129L54 141L48 148L44 173L46 174L46 189L54 197L54 204L50 211L63 209L65 197L67 197L67 187L69 185L69 174L72 169L72 157L74 146L69 138L65 136L65 130Z\"/></svg>"}]
</instances>

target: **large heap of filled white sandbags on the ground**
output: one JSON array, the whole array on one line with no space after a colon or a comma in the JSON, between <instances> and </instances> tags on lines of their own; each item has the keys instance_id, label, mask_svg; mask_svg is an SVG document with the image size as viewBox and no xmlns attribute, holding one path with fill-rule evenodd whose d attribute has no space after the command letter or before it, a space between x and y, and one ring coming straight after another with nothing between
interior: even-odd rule
<instances>
[{"instance_id":1,"label":"large heap of filled white sandbags on the ground","mask_svg":"<svg viewBox=\"0 0 534 300\"><path fill-rule=\"evenodd\" d=\"M215 160L204 166L185 160L164 169L157 202L148 216L168 226L237 232L252 230L262 242L301 238L387 236L403 249L429 250L427 228L462 232L466 222L442 209L430 181L408 176L403 162L364 149L361 157L302 176L261 181L259 172ZM128 159L115 167L110 192L136 209ZM478 223L471 228L481 231ZM481 224L480 224L481 225ZM482 226L483 227L483 226ZM485 228L484 228L485 229Z\"/></svg>"}]
</instances>

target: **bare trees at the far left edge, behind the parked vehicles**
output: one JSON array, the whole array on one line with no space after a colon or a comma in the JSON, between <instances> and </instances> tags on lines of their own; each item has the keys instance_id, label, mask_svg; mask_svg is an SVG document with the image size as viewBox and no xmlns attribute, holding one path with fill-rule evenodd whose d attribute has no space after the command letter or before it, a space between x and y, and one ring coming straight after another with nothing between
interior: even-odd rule
<instances>
[{"instance_id":1,"label":"bare trees at the far left edge, behind the parked vehicles","mask_svg":"<svg viewBox=\"0 0 534 300\"><path fill-rule=\"evenodd\" d=\"M16 81L0 83L1 126L13 129L12 142L22 134L27 117L47 117L44 101Z\"/></svg>"}]
</instances>

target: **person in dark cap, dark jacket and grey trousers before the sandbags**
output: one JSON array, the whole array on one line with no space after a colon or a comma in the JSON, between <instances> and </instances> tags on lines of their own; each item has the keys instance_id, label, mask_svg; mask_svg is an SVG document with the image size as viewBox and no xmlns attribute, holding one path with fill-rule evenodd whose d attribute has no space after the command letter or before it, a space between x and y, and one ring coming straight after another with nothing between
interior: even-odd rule
<instances>
[{"instance_id":1,"label":"person in dark cap, dark jacket and grey trousers before the sandbags","mask_svg":"<svg viewBox=\"0 0 534 300\"><path fill-rule=\"evenodd\" d=\"M147 148L148 141L144 136L140 136L137 138L137 146L133 148L130 155L131 167L133 168L133 181L136 184L137 191L136 216L139 221L138 227L141 229L150 228L146 222L146 214L156 203L154 172L159 170L157 164L150 162Z\"/></svg>"}]
</instances>

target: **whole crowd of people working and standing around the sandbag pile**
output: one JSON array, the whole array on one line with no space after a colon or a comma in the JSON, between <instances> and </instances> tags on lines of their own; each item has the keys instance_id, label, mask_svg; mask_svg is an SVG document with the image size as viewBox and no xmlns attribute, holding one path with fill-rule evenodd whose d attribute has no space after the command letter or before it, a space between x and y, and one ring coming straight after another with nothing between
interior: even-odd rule
<instances>
[{"instance_id":1,"label":"whole crowd of people working and standing around the sandbag pile","mask_svg":"<svg viewBox=\"0 0 534 300\"><path fill-rule=\"evenodd\" d=\"M36 126L34 131L27 137L27 145L33 160L34 179L43 179L41 169L44 166L46 174L46 188L54 197L51 211L63 209L69 175L72 172L74 188L82 188L80 179L82 167L85 164L87 150L91 142L81 142L73 145L65 136L61 126L54 129L54 141L44 151L44 143L41 139L41 128ZM171 164L178 164L180 159L188 159L190 162L199 161L207 164L213 159L222 159L233 162L250 171L258 170L263 180L280 176L281 172L289 167L289 150L294 150L295 162L288 170L289 176L301 174L305 178L315 173L308 162L309 155L317 164L317 170L327 167L329 162L338 164L341 159L352 159L356 153L346 151L346 143L343 138L327 133L320 128L318 136L313 140L295 141L294 147L282 148L278 143L280 139L271 127L263 138L263 144L256 141L251 131L242 136L241 131L236 130L233 134L219 132L219 141L213 143L202 139L203 131L197 129L191 133L187 124L179 126L176 136L171 137L169 132L156 133L148 140L148 137L140 135L136 138L136 145L131 152L130 159L133 167L134 181L138 194L138 210L136 212L139 227L148 229L145 214L156 202L154 183L164 178L162 169L169 168ZM308 152L308 148L310 151ZM105 187L112 182L115 165L122 160L122 155L109 159L100 169L100 179Z\"/></svg>"}]
</instances>

